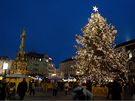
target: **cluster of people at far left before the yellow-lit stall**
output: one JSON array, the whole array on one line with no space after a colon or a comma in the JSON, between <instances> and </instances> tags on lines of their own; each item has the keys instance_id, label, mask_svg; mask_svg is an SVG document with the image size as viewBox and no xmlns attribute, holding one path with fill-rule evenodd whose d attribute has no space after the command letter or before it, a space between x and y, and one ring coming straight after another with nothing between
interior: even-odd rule
<instances>
[{"instance_id":1,"label":"cluster of people at far left before the yellow-lit stall","mask_svg":"<svg viewBox=\"0 0 135 101\"><path fill-rule=\"evenodd\" d=\"M0 100L23 100L27 91L29 91L30 95L35 95L34 80L31 80L28 85L26 79L23 78L23 80L19 82L17 89L16 86L15 82L6 82L6 79L3 78L0 81Z\"/></svg>"}]
</instances>

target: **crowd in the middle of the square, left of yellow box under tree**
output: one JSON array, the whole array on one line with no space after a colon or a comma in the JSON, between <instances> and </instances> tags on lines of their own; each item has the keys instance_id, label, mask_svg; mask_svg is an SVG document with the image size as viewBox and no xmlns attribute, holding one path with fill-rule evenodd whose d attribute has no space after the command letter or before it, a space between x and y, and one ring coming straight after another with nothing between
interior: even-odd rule
<instances>
[{"instance_id":1,"label":"crowd in the middle of the square, left of yellow box under tree","mask_svg":"<svg viewBox=\"0 0 135 101\"><path fill-rule=\"evenodd\" d=\"M51 89L48 89L49 84L52 85ZM52 96L57 96L58 92L63 91L65 96L72 93L74 100L92 99L93 94L91 93L91 83L89 82L87 83L87 85L88 84L89 86L85 88L79 82L68 82L68 81L63 82L63 81L57 81L57 80L52 80L50 82L47 79L41 82L43 90L45 92L48 92L51 90Z\"/></svg>"}]
</instances>

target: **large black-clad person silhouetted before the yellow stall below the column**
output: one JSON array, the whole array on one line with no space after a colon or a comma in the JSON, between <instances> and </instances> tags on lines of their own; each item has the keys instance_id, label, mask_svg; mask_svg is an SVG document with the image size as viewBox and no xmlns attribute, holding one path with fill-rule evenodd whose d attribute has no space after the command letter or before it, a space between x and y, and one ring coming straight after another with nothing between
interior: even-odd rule
<instances>
[{"instance_id":1,"label":"large black-clad person silhouetted before the yellow stall below the column","mask_svg":"<svg viewBox=\"0 0 135 101\"><path fill-rule=\"evenodd\" d=\"M17 93L20 96L20 100L24 99L26 92L27 92L27 82L24 78L23 81L19 83L17 88Z\"/></svg>"}]
</instances>

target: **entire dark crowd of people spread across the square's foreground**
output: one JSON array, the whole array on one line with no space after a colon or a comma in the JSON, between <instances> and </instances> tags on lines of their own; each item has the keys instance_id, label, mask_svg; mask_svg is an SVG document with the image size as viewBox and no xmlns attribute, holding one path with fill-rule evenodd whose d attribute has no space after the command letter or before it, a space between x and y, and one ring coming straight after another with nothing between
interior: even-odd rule
<instances>
[{"instance_id":1,"label":"entire dark crowd of people spread across the square's foreground","mask_svg":"<svg viewBox=\"0 0 135 101\"><path fill-rule=\"evenodd\" d=\"M44 83L43 81L41 83ZM47 83L45 83L47 84ZM90 80L86 83L78 82L59 82L53 80L52 84L52 96L57 96L59 91L64 91L65 96L72 93L73 100L92 100L94 99L94 94L92 92L92 87L96 86L96 83ZM40 85L44 87L44 85ZM114 79L113 82L108 82L108 84L101 85L101 87L108 88L108 94L106 99L112 100L134 100L135 99L135 83L130 80L128 82L122 83L118 79ZM16 89L17 88L17 89ZM16 87L15 82L6 82L6 79L0 81L0 100L15 100L17 97L23 100L26 92L29 92L30 96L35 96L36 83L34 80L30 80L29 83L23 78L21 82ZM47 92L47 91L46 91Z\"/></svg>"}]
</instances>

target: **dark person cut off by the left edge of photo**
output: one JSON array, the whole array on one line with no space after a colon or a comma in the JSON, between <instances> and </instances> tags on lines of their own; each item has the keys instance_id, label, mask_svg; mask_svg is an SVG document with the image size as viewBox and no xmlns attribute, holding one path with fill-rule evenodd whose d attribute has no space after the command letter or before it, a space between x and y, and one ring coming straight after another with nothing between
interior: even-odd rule
<instances>
[{"instance_id":1,"label":"dark person cut off by the left edge of photo","mask_svg":"<svg viewBox=\"0 0 135 101\"><path fill-rule=\"evenodd\" d=\"M6 78L3 78L0 81L0 100L6 99L6 88L7 88Z\"/></svg>"}]
</instances>

